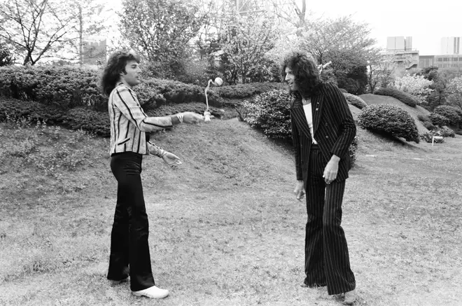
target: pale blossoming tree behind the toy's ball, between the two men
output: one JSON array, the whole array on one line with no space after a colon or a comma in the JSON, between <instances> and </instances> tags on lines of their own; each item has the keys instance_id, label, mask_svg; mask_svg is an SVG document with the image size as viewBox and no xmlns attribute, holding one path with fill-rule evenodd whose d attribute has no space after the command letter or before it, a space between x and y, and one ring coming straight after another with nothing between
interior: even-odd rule
<instances>
[{"instance_id":1,"label":"pale blossoming tree behind the toy's ball, between the two men","mask_svg":"<svg viewBox=\"0 0 462 306\"><path fill-rule=\"evenodd\" d=\"M221 70L225 81L248 83L253 75L262 73L265 53L274 47L278 36L274 21L266 13L239 15L228 10L223 25Z\"/></svg>"}]
</instances>

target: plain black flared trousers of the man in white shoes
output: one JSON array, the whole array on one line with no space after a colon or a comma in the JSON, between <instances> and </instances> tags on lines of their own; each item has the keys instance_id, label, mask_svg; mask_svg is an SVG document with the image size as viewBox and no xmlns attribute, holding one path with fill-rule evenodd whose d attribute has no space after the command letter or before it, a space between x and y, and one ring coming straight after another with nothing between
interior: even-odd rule
<instances>
[{"instance_id":1,"label":"plain black flared trousers of the man in white shoes","mask_svg":"<svg viewBox=\"0 0 462 306\"><path fill-rule=\"evenodd\" d=\"M125 279L130 270L132 291L155 285L148 245L148 215L141 185L142 160L143 155L132 152L111 157L111 170L118 187L107 277L116 281Z\"/></svg>"}]
</instances>

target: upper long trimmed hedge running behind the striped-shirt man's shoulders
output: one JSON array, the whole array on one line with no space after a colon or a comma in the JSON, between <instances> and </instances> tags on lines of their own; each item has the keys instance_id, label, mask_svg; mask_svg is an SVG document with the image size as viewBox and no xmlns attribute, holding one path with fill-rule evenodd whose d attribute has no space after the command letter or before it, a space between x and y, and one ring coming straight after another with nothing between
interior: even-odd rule
<instances>
[{"instance_id":1,"label":"upper long trimmed hedge running behind the striped-shirt man's shoulders","mask_svg":"<svg viewBox=\"0 0 462 306\"><path fill-rule=\"evenodd\" d=\"M98 88L100 71L76 67L1 67L0 95L22 101L41 102L63 109L92 106L107 110L107 97ZM177 81L146 78L134 88L145 110L167 103L205 102L204 89ZM209 105L221 106L223 99L207 92Z\"/></svg>"}]
</instances>

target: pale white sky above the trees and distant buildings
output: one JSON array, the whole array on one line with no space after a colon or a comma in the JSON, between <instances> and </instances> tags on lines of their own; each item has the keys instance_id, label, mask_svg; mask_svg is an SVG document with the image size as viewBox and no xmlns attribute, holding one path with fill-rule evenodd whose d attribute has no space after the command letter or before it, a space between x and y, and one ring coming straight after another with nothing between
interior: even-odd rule
<instances>
[{"instance_id":1,"label":"pale white sky above the trees and distant buildings","mask_svg":"<svg viewBox=\"0 0 462 306\"><path fill-rule=\"evenodd\" d=\"M97 0L115 10L121 0ZM188 0L183 0L188 1ZM291 0L286 0L290 2ZM302 0L294 0L301 8ZM462 37L461 0L306 0L314 16L337 18L352 15L353 20L370 25L377 47L386 48L387 36L412 36L412 49L419 55L441 53L443 37Z\"/></svg>"}]
</instances>

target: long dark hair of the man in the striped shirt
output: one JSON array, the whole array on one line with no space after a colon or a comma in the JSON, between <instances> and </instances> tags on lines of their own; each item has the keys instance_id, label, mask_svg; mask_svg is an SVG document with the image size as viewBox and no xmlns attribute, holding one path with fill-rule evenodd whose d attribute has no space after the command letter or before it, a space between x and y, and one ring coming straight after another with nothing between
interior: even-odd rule
<instances>
[{"instance_id":1,"label":"long dark hair of the man in the striped shirt","mask_svg":"<svg viewBox=\"0 0 462 306\"><path fill-rule=\"evenodd\" d=\"M139 63L140 58L134 52L127 50L118 50L109 56L99 84L104 95L108 97L111 95L111 91L116 88L116 83L120 79L120 73L127 73L125 66L131 60Z\"/></svg>"}]
</instances>

